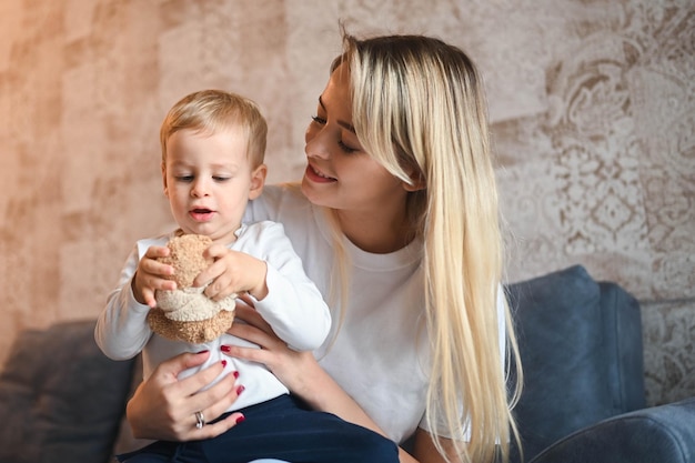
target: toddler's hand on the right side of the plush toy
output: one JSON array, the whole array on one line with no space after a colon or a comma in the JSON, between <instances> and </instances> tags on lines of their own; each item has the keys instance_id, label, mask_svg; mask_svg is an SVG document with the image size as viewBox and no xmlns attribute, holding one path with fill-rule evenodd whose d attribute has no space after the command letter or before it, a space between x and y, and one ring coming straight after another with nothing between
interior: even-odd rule
<instances>
[{"instance_id":1,"label":"toddler's hand on the right side of the plush toy","mask_svg":"<svg viewBox=\"0 0 695 463\"><path fill-rule=\"evenodd\" d=\"M256 300L268 295L265 262L250 254L232 251L225 245L213 244L205 251L205 256L214 262L203 270L193 281L194 286L205 288L205 295L220 301L231 294L248 292Z\"/></svg>"}]
</instances>

